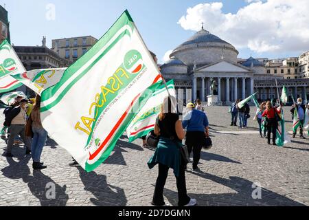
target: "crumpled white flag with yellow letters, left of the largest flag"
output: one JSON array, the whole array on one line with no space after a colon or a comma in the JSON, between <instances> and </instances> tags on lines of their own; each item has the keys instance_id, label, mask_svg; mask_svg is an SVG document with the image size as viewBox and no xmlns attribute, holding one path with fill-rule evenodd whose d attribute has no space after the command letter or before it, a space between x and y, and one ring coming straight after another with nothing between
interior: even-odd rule
<instances>
[{"instance_id":1,"label":"crumpled white flag with yellow letters, left of the largest flag","mask_svg":"<svg viewBox=\"0 0 309 220\"><path fill-rule=\"evenodd\" d=\"M60 81L66 69L34 69L23 74L12 75L12 77L41 96L45 89L56 85Z\"/></svg>"}]
</instances>

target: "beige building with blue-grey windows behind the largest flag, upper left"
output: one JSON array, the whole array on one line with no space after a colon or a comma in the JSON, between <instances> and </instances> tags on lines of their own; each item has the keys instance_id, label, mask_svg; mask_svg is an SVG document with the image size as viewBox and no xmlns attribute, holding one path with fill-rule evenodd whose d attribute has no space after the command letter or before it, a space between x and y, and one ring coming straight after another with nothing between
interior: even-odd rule
<instances>
[{"instance_id":1,"label":"beige building with blue-grey windows behind the largest flag, upper left","mask_svg":"<svg viewBox=\"0 0 309 220\"><path fill-rule=\"evenodd\" d=\"M98 42L93 36L79 36L69 39L52 40L52 50L61 58L65 58L69 63L74 63L80 56Z\"/></svg>"}]
</instances>

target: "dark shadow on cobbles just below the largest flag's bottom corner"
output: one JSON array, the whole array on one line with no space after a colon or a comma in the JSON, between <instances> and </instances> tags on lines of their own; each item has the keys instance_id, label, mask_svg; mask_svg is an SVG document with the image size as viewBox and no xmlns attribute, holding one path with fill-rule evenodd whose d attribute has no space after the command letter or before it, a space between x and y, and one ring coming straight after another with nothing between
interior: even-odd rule
<instances>
[{"instance_id":1,"label":"dark shadow on cobbles just below the largest flag's bottom corner","mask_svg":"<svg viewBox=\"0 0 309 220\"><path fill-rule=\"evenodd\" d=\"M126 206L127 199L122 188L107 184L105 175L98 175L95 172L87 173L80 166L80 179L87 190L95 196L90 201L95 206Z\"/></svg>"}]
</instances>

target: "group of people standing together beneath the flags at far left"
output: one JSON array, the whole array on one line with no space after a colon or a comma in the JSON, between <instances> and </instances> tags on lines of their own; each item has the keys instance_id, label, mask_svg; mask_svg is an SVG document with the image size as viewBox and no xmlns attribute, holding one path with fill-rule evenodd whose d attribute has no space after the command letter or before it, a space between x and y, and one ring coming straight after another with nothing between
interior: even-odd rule
<instances>
[{"instance_id":1,"label":"group of people standing together beneath the flags at far left","mask_svg":"<svg viewBox=\"0 0 309 220\"><path fill-rule=\"evenodd\" d=\"M41 162L41 154L47 140L47 131L41 123L41 97L27 100L17 96L10 106L3 111L5 122L3 124L2 137L8 133L8 145L5 149L5 157L13 157L12 148L21 140L25 144L25 155L32 155L32 168L44 169ZM8 129L7 129L8 128Z\"/></svg>"}]
</instances>

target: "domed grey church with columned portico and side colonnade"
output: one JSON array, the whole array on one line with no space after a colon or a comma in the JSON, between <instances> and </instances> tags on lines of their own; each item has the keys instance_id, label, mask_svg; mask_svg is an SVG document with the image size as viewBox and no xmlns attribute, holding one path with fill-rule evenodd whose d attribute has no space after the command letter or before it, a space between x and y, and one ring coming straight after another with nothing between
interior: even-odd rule
<instances>
[{"instance_id":1,"label":"domed grey church with columned portico and side colonnade","mask_svg":"<svg viewBox=\"0 0 309 220\"><path fill-rule=\"evenodd\" d=\"M264 63L252 57L242 65L238 64L238 54L233 45L202 27L194 36L176 47L170 54L170 61L161 65L161 73L166 80L174 80L177 98L184 102L197 98L207 102L207 96L211 95L210 82L213 80L214 95L218 95L220 105L231 104L234 100L244 99L255 92L258 92L257 97L260 99L277 97L275 90L265 94L264 86L265 89L275 89L276 79L281 87L288 81L285 82L282 76L266 74ZM297 82L293 83L297 86ZM303 83L303 87L299 97L304 94L306 96L309 83ZM297 97L298 90L293 91Z\"/></svg>"}]
</instances>

